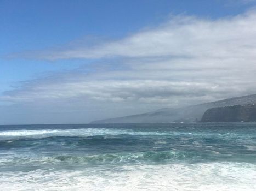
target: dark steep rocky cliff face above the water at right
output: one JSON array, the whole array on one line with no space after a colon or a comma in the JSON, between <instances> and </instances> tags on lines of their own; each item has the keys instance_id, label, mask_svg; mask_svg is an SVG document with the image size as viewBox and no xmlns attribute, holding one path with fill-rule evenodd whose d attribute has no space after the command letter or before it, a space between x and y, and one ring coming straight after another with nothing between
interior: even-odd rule
<instances>
[{"instance_id":1,"label":"dark steep rocky cliff face above the water at right","mask_svg":"<svg viewBox=\"0 0 256 191\"><path fill-rule=\"evenodd\" d=\"M223 106L204 112L201 122L256 121L256 104Z\"/></svg>"}]
</instances>

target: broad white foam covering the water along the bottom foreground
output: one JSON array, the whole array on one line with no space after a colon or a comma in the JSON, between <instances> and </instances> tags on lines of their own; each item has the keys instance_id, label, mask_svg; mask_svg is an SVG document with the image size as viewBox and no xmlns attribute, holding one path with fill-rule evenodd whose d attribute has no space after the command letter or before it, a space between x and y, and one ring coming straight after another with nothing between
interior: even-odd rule
<instances>
[{"instance_id":1,"label":"broad white foam covering the water along the bottom foreground","mask_svg":"<svg viewBox=\"0 0 256 191\"><path fill-rule=\"evenodd\" d=\"M79 171L0 172L3 190L254 191L256 165L201 163L86 168Z\"/></svg>"}]
</instances>

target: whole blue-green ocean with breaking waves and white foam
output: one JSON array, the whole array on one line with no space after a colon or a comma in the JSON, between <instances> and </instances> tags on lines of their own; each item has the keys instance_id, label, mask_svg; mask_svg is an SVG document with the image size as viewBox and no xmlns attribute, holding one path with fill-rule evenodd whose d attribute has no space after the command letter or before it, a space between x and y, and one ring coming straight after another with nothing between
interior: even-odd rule
<instances>
[{"instance_id":1,"label":"whole blue-green ocean with breaking waves and white foam","mask_svg":"<svg viewBox=\"0 0 256 191\"><path fill-rule=\"evenodd\" d=\"M256 123L0 126L0 190L256 190Z\"/></svg>"}]
</instances>

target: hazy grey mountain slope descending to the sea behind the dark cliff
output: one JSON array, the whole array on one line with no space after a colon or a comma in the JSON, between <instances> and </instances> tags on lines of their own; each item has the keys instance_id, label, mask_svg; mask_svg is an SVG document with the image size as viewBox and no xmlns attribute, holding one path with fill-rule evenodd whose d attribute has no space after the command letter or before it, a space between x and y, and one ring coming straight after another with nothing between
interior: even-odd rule
<instances>
[{"instance_id":1,"label":"hazy grey mountain slope descending to the sea behind the dark cliff","mask_svg":"<svg viewBox=\"0 0 256 191\"><path fill-rule=\"evenodd\" d=\"M244 105L256 103L256 94L235 97L193 105L183 108L164 108L144 114L130 115L124 117L109 118L105 120L93 121L92 123L163 123L163 122L196 122L200 121L204 112L210 108L221 106Z\"/></svg>"}]
</instances>

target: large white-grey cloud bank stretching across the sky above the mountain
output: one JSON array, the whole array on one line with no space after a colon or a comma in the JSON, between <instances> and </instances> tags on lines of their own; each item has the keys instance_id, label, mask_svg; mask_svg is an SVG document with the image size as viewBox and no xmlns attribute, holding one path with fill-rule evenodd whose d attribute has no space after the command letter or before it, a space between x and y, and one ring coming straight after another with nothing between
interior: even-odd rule
<instances>
[{"instance_id":1,"label":"large white-grey cloud bank stretching across the sky above the mountain","mask_svg":"<svg viewBox=\"0 0 256 191\"><path fill-rule=\"evenodd\" d=\"M70 100L134 107L191 105L255 93L256 11L218 20L175 16L129 37L84 47L24 53L37 59L100 61L21 83L0 100ZM88 69L88 68L87 68ZM107 107L107 105L106 105ZM124 112L125 114L125 112ZM115 116L115 114L113 114Z\"/></svg>"}]
</instances>

